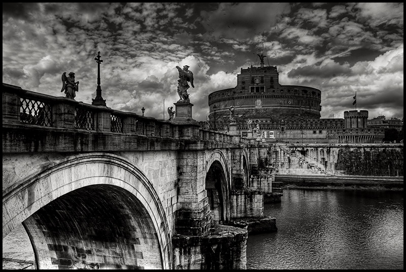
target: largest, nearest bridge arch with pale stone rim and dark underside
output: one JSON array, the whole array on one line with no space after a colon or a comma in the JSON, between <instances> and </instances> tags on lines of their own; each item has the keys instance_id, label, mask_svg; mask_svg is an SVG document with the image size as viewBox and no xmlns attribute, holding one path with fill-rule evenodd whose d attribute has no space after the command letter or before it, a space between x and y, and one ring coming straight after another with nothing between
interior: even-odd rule
<instances>
[{"instance_id":1,"label":"largest, nearest bridge arch with pale stone rim and dark underside","mask_svg":"<svg viewBox=\"0 0 406 272\"><path fill-rule=\"evenodd\" d=\"M58 205L55 206L55 203ZM112 204L118 204L119 207L113 209L110 207ZM96 209L98 205L101 209L112 209L106 211L106 214ZM71 209L72 206L75 209ZM55 207L61 207L62 210L56 211ZM81 211L86 216L94 213L98 215L94 220L75 219ZM47 215L56 218L58 213L61 217L60 214L69 212L71 214L62 217L72 219L72 224L66 220L59 225L59 229L62 226L65 232L53 234L52 227L58 224L52 220L44 222ZM110 219L109 212L115 216L114 220ZM107 223L95 222L105 219ZM80 245L75 245L75 241L60 239L72 232L82 233L81 226L75 224L91 223L95 231L100 232L109 229L97 225L112 225L117 220L121 220L122 228L117 233L126 236L121 237L119 242L96 240L95 244L89 244L89 233L86 234L87 240L76 241L83 242ZM170 231L157 192L142 171L113 154L91 153L68 158L27 177L20 186L4 191L3 238L22 222L33 244L39 268L58 268L59 265L76 268L172 268ZM76 228L70 230L69 227ZM61 244L61 240L66 243ZM148 248L147 244L153 245L155 255L159 256L150 256L154 254L150 252L154 249ZM129 252L125 246L133 250ZM148 250L143 251L143 246ZM101 259L95 259L97 252L101 252L98 254ZM128 256L128 253L132 255ZM92 259L87 261L86 254L91 255ZM69 260L67 255L73 256L75 260ZM121 266L115 261L119 261ZM106 263L109 265L106 266Z\"/></svg>"}]
</instances>

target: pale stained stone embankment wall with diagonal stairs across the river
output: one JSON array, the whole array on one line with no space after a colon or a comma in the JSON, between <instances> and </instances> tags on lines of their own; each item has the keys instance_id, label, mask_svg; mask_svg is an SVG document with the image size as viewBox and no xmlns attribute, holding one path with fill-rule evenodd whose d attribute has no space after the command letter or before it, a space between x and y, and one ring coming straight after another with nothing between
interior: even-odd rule
<instances>
[{"instance_id":1,"label":"pale stained stone embankment wall with diagonal stairs across the river","mask_svg":"<svg viewBox=\"0 0 406 272\"><path fill-rule=\"evenodd\" d=\"M275 175L403 176L403 143L273 144Z\"/></svg>"}]
</instances>

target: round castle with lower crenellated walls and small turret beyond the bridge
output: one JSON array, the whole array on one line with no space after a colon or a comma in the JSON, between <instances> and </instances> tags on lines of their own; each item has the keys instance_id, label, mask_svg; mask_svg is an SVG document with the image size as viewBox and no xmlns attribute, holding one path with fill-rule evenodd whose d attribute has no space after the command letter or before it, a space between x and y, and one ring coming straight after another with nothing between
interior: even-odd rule
<instances>
[{"instance_id":1,"label":"round castle with lower crenellated walls and small turret beyond the bridge","mask_svg":"<svg viewBox=\"0 0 406 272\"><path fill-rule=\"evenodd\" d=\"M242 136L259 124L267 142L378 143L384 129L367 126L367 110L344 112L344 119L320 118L321 91L312 87L281 85L276 66L241 68L234 88L209 95L210 129L223 130L230 123L229 108ZM255 133L254 133L255 135ZM255 137L255 136L254 136Z\"/></svg>"}]
</instances>

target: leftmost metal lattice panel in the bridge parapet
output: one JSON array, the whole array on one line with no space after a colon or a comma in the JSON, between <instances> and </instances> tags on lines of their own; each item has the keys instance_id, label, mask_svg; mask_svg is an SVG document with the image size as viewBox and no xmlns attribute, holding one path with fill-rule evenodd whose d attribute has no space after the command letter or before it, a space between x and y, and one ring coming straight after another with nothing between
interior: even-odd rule
<instances>
[{"instance_id":1,"label":"leftmost metal lattice panel in the bridge parapet","mask_svg":"<svg viewBox=\"0 0 406 272\"><path fill-rule=\"evenodd\" d=\"M22 123L52 127L52 107L50 104L28 98L20 98L20 102L20 121Z\"/></svg>"}]
</instances>

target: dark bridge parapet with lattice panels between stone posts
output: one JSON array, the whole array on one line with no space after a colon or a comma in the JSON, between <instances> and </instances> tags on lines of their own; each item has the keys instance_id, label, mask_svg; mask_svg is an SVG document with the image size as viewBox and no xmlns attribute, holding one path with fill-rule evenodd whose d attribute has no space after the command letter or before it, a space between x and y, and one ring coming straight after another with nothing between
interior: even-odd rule
<instances>
[{"instance_id":1,"label":"dark bridge parapet with lattice panels between stone posts","mask_svg":"<svg viewBox=\"0 0 406 272\"><path fill-rule=\"evenodd\" d=\"M45 133L46 135L49 135L50 131L56 130L59 134L64 132L65 139L69 138L66 136L66 133L73 135L75 132L79 132L81 135L85 135L85 138L89 138L89 135L100 136L100 133L103 133L109 135L106 137L115 139L114 141L119 144L117 149L129 148L129 144L125 145L125 142L129 142L127 136L136 137L132 140L136 143L140 142L138 140L140 137L137 136L143 138L141 141L145 141L145 137L149 139L154 138L155 141L157 138L165 138L167 140L172 138L174 141L192 138L212 142L211 145L216 143L216 147L219 144L230 147L232 143L235 144L236 142L248 143L248 139L241 138L240 136L231 136L221 132L199 129L193 123L185 125L157 120L133 112L124 112L106 106L94 106L73 99L32 92L5 83L3 83L3 127L33 129L38 132L44 130L43 134ZM21 131L19 133L21 134ZM126 137L120 137L120 134ZM55 134L53 136L55 138ZM123 142L124 138L125 141ZM47 140L50 139L47 138ZM83 141L91 142L90 139ZM111 145L101 147L99 142L97 144L99 146L98 150L112 147ZM170 149L177 148L176 143L164 145L164 147L160 146L158 149L167 149L168 146L172 146ZM136 146L133 143L131 144L132 148ZM138 145L139 148L142 148L141 146L142 144ZM54 148L57 147L54 146ZM83 147L80 150L83 150ZM3 146L3 151L7 151L5 150L5 145ZM9 151L23 150L12 149ZM47 150L31 149L27 151ZM93 150L89 148L87 151Z\"/></svg>"}]
</instances>

